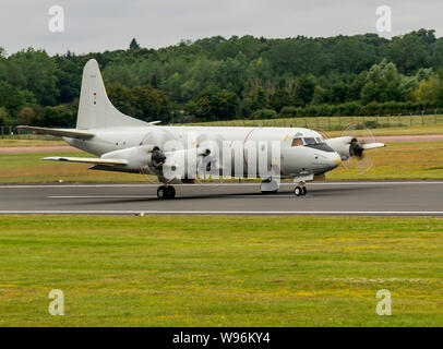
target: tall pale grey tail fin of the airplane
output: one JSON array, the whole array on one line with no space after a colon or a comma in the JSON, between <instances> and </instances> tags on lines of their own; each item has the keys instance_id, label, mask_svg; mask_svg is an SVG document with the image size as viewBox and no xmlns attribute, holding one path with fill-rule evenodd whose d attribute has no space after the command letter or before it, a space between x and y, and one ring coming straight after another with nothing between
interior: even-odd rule
<instances>
[{"instance_id":1,"label":"tall pale grey tail fin of the airplane","mask_svg":"<svg viewBox=\"0 0 443 349\"><path fill-rule=\"evenodd\" d=\"M148 123L128 117L112 106L106 94L97 61L95 59L87 61L83 69L76 129L89 130L137 125L146 127Z\"/></svg>"}]
</instances>

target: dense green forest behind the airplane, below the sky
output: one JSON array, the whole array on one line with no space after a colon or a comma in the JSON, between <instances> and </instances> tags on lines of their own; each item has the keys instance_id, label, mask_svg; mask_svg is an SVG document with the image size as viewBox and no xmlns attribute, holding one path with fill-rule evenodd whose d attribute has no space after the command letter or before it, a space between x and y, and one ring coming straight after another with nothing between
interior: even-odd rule
<instances>
[{"instance_id":1,"label":"dense green forest behind the airplane, below the sky","mask_svg":"<svg viewBox=\"0 0 443 349\"><path fill-rule=\"evenodd\" d=\"M1 45L1 44L0 44ZM75 127L85 62L109 98L147 121L410 115L443 109L443 38L419 29L264 38L215 36L148 49L48 56L0 48L0 125Z\"/></svg>"}]
</instances>

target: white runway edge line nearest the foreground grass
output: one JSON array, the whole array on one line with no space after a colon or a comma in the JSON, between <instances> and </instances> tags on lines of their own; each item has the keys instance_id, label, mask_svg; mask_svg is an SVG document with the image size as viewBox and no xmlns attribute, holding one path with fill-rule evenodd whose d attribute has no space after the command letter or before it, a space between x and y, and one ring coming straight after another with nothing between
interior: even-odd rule
<instances>
[{"instance_id":1,"label":"white runway edge line nearest the foreground grass","mask_svg":"<svg viewBox=\"0 0 443 349\"><path fill-rule=\"evenodd\" d=\"M369 215L369 216L441 216L443 210L0 210L14 214L73 215Z\"/></svg>"}]
</instances>

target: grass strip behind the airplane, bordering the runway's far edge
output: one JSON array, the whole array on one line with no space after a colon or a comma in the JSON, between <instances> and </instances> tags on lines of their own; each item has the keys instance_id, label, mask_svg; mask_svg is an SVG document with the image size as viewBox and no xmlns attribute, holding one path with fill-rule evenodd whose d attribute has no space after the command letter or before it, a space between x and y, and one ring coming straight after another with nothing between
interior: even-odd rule
<instances>
[{"instance_id":1,"label":"grass strip behind the airplane, bordering the runway's far edge","mask_svg":"<svg viewBox=\"0 0 443 349\"><path fill-rule=\"evenodd\" d=\"M340 167L327 179L443 179L443 143L392 143L371 152L373 167L359 174L356 167ZM43 161L51 153L0 154L0 183L134 182L141 174L87 170L88 165ZM57 155L57 154L53 154ZM63 153L63 156L88 156Z\"/></svg>"}]
</instances>

